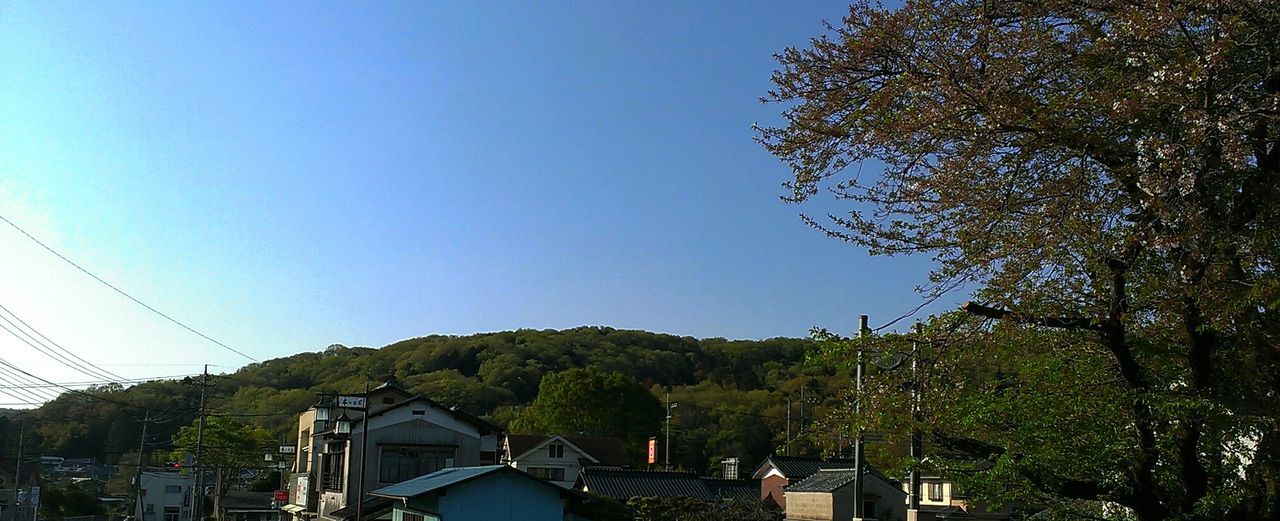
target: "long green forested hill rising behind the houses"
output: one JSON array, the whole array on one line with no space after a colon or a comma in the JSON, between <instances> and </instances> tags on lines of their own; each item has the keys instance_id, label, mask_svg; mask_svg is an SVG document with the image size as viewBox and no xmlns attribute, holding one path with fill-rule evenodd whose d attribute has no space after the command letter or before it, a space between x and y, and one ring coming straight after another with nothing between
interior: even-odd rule
<instances>
[{"instance_id":1,"label":"long green forested hill rising behind the houses","mask_svg":"<svg viewBox=\"0 0 1280 521\"><path fill-rule=\"evenodd\" d=\"M283 439L316 393L396 381L508 425L534 401L543 376L595 367L626 375L654 394L671 393L684 407L673 420L673 460L705 470L721 457L759 458L780 448L786 443L786 399L805 387L813 403L841 385L833 373L803 365L808 346L806 339L696 339L603 326L430 335L381 348L330 346L211 376L207 410L262 425ZM148 425L147 447L163 453L169 437L196 417L200 388L198 379L105 387L90 390L93 398L67 393L18 417L35 426L28 451L37 445L59 456L115 461L137 451L146 415L157 419ZM810 417L815 407L810 405ZM15 420L0 417L5 454L15 452ZM795 452L800 443L792 445Z\"/></svg>"}]
</instances>

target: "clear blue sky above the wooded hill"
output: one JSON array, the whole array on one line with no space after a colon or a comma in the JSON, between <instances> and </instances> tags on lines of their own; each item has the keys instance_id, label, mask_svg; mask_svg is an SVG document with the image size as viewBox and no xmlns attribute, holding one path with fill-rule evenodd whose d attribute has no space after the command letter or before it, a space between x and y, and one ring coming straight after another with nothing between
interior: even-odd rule
<instances>
[{"instance_id":1,"label":"clear blue sky above the wooded hill","mask_svg":"<svg viewBox=\"0 0 1280 521\"><path fill-rule=\"evenodd\" d=\"M772 54L832 3L6 3L0 215L256 358L611 325L803 337L920 302L778 200ZM247 360L0 224L0 303L127 376ZM0 332L0 351L76 381Z\"/></svg>"}]
</instances>

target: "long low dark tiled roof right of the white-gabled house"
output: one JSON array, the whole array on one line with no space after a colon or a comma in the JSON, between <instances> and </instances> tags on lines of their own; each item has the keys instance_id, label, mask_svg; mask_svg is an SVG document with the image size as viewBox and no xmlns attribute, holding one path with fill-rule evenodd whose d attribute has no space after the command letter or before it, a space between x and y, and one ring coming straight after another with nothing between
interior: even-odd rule
<instances>
[{"instance_id":1,"label":"long low dark tiled roof right of the white-gabled house","mask_svg":"<svg viewBox=\"0 0 1280 521\"><path fill-rule=\"evenodd\" d=\"M630 498L694 498L713 499L716 495L692 472L657 472L646 470L621 470L586 467L577 477L577 488L591 494L613 499Z\"/></svg>"}]
</instances>

